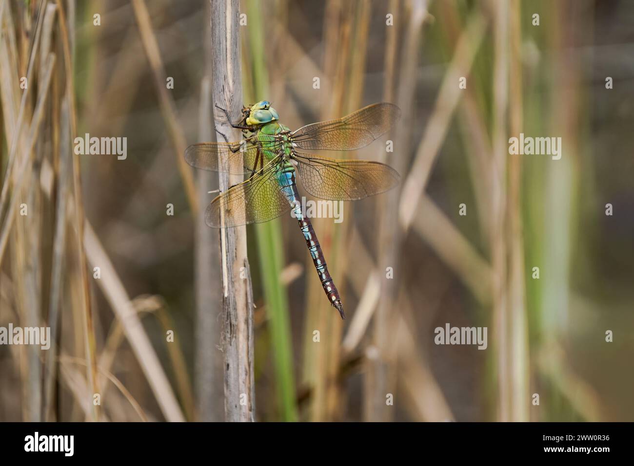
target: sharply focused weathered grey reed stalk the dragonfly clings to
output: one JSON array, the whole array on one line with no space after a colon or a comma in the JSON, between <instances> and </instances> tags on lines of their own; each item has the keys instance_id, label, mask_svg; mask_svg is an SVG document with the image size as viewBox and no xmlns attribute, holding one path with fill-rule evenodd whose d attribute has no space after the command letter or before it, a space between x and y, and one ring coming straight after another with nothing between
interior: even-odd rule
<instances>
[{"instance_id":1,"label":"sharply focused weathered grey reed stalk the dragonfly clings to","mask_svg":"<svg viewBox=\"0 0 634 466\"><path fill-rule=\"evenodd\" d=\"M236 121L240 119L242 108L240 3L238 0L210 0L210 2L214 120L218 132L222 132L230 140L238 141L242 134L230 126L223 111L217 106L226 109L231 118ZM219 173L218 178L221 192L242 181L241 176L227 173ZM224 298L225 415L228 421L253 421L256 412L253 373L253 303L247 260L247 230L244 226L222 228L220 235Z\"/></svg>"}]
</instances>

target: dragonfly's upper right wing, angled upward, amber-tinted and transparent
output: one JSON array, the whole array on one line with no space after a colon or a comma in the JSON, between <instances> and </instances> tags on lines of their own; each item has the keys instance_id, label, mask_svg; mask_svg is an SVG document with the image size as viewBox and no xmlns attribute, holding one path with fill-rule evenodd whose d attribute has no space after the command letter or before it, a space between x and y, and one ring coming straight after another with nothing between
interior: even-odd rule
<instances>
[{"instance_id":1,"label":"dragonfly's upper right wing, angled upward, amber-tinted and transparent","mask_svg":"<svg viewBox=\"0 0 634 466\"><path fill-rule=\"evenodd\" d=\"M394 104L372 104L337 120L301 127L292 134L292 141L306 151L353 151L385 134L400 116Z\"/></svg>"}]
</instances>

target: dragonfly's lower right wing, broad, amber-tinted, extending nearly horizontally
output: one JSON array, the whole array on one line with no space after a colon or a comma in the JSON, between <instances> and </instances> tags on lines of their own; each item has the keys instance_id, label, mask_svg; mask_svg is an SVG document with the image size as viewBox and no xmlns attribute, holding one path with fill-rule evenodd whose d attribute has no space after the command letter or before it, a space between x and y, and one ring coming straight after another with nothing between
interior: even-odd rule
<instances>
[{"instance_id":1,"label":"dragonfly's lower right wing, broad, amber-tinted, extending nearly horizontally","mask_svg":"<svg viewBox=\"0 0 634 466\"><path fill-rule=\"evenodd\" d=\"M295 154L304 189L316 198L357 201L396 186L394 168L369 160L338 160L314 154Z\"/></svg>"}]
</instances>

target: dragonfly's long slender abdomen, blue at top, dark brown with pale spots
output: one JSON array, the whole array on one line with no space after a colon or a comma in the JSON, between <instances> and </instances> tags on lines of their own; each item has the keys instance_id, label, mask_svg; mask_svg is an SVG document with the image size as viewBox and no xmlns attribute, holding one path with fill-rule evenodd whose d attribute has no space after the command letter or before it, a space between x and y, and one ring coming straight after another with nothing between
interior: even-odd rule
<instances>
[{"instance_id":1,"label":"dragonfly's long slender abdomen, blue at top, dark brown with pale spots","mask_svg":"<svg viewBox=\"0 0 634 466\"><path fill-rule=\"evenodd\" d=\"M328 267L325 259L323 258L321 246L314 232L311 220L304 217L304 213L302 212L302 202L299 198L299 192L297 192L297 186L295 185L295 167L290 165L290 163L285 165L283 170L280 170L278 173L278 182L280 183L281 191L284 193L284 196L286 196L288 203L291 206L295 218L297 218L297 222L299 222L299 228L302 230L304 240L306 240L306 246L308 246L308 251L313 259L313 264L320 277L323 291L326 293L326 296L328 296L330 304L335 306L335 308L339 311L341 318L345 319L346 315L344 314L344 306L341 304L339 291L337 291L337 287L332 281L330 273L328 273Z\"/></svg>"}]
</instances>

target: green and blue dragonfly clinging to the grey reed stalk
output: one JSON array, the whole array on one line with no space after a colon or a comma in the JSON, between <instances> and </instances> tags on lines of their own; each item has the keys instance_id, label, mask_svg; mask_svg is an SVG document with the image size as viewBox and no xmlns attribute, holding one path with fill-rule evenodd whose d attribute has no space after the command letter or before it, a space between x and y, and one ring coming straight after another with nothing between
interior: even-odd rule
<instances>
[{"instance_id":1,"label":"green and blue dragonfly clinging to the grey reed stalk","mask_svg":"<svg viewBox=\"0 0 634 466\"><path fill-rule=\"evenodd\" d=\"M210 227L230 228L268 222L292 211L306 240L321 286L330 304L346 318L314 232L302 211L296 179L316 198L356 201L388 191L399 183L399 174L389 165L369 160L335 159L313 151L351 151L368 146L385 134L400 118L398 106L375 103L350 115L311 123L295 131L279 122L271 102L260 101L242 109L240 121L231 122L226 110L216 106L230 125L245 138L230 142L201 142L189 146L189 165L214 172L248 175L214 198L205 211ZM222 135L222 133L219 133Z\"/></svg>"}]
</instances>

